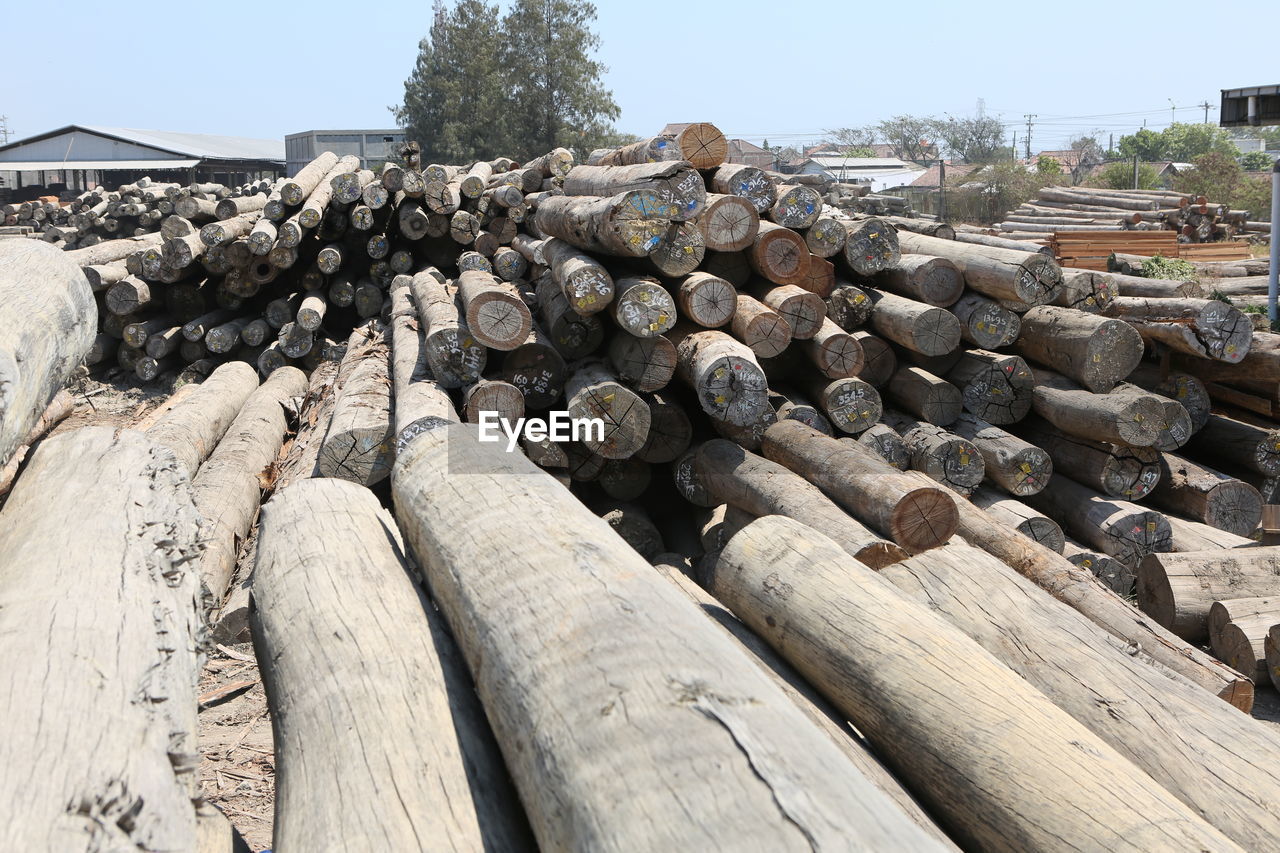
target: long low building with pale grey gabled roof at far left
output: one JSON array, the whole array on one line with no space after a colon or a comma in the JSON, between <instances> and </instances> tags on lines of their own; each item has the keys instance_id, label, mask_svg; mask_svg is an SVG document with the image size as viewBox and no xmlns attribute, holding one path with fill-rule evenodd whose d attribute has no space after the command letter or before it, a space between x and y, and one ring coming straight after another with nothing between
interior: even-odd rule
<instances>
[{"instance_id":1,"label":"long low building with pale grey gabled roof at far left","mask_svg":"<svg viewBox=\"0 0 1280 853\"><path fill-rule=\"evenodd\" d=\"M0 181L18 197L114 187L143 175L238 184L283 172L279 140L69 124L0 146Z\"/></svg>"}]
</instances>

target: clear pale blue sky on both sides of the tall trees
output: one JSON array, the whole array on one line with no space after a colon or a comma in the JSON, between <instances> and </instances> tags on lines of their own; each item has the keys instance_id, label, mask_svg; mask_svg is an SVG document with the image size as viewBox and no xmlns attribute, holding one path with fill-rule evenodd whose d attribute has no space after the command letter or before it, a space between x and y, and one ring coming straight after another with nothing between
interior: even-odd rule
<instances>
[{"instance_id":1,"label":"clear pale blue sky on both sides of the tall trees","mask_svg":"<svg viewBox=\"0 0 1280 853\"><path fill-rule=\"evenodd\" d=\"M504 4L506 5L506 4ZM1032 150L1106 143L1171 118L1217 120L1221 88L1280 82L1274 41L1201 0L911 4L599 0L622 131L712 122L730 137L819 142L899 114L975 115ZM10 141L67 124L275 137L384 128L430 0L5 3L0 115ZM1052 12L1048 17L1044 10ZM119 51L119 53L116 53ZM1171 111L1171 106L1176 108ZM497 154L497 152L495 152Z\"/></svg>"}]
</instances>

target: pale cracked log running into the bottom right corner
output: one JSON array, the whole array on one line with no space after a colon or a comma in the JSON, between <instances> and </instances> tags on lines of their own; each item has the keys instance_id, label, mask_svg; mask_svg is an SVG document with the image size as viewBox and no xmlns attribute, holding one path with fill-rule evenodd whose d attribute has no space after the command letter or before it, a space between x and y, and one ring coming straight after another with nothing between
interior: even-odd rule
<instances>
[{"instance_id":1,"label":"pale cracked log running into the bottom right corner","mask_svg":"<svg viewBox=\"0 0 1280 853\"><path fill-rule=\"evenodd\" d=\"M1280 817L1270 731L1185 679L1132 654L1007 566L952 543L891 566L895 587L977 640L1245 849ZM1212 720L1212 722L1208 722ZM1230 780L1230 781L1228 781Z\"/></svg>"}]
</instances>

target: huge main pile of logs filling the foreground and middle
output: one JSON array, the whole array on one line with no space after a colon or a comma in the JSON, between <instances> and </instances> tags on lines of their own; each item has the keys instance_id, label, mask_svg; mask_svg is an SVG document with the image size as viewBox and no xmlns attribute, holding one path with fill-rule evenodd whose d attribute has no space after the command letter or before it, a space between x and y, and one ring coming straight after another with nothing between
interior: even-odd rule
<instances>
[{"instance_id":1,"label":"huge main pile of logs filling the foreground and middle","mask_svg":"<svg viewBox=\"0 0 1280 853\"><path fill-rule=\"evenodd\" d=\"M282 849L1274 845L1280 738L1236 708L1280 598L1249 538L1280 429L1210 383L1280 384L1280 336L1178 283L846 214L684 127L684 159L328 155L261 210L104 243L88 275L0 245L0 464L122 260L165 311L128 325L195 321L209 374L133 430L26 453L0 717L31 761L0 825L191 847L174 757L207 617L252 624ZM242 301L179 325L192 279L164 279L193 265ZM535 428L561 411L596 428ZM1236 669L1192 644L1213 631ZM91 715L102 684L165 701ZM79 793L102 762L136 802Z\"/></svg>"}]
</instances>

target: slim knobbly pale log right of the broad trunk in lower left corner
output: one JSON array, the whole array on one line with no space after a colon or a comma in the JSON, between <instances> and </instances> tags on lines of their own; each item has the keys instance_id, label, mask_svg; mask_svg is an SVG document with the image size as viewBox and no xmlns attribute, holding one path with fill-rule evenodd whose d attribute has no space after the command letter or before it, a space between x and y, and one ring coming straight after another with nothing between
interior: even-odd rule
<instances>
[{"instance_id":1,"label":"slim knobbly pale log right of the broad trunk in lower left corner","mask_svg":"<svg viewBox=\"0 0 1280 853\"><path fill-rule=\"evenodd\" d=\"M192 483L204 523L200 576L205 607L221 606L262 497L264 475L280 452L287 428L284 403L306 393L307 378L284 366L250 394L227 434Z\"/></svg>"}]
</instances>

